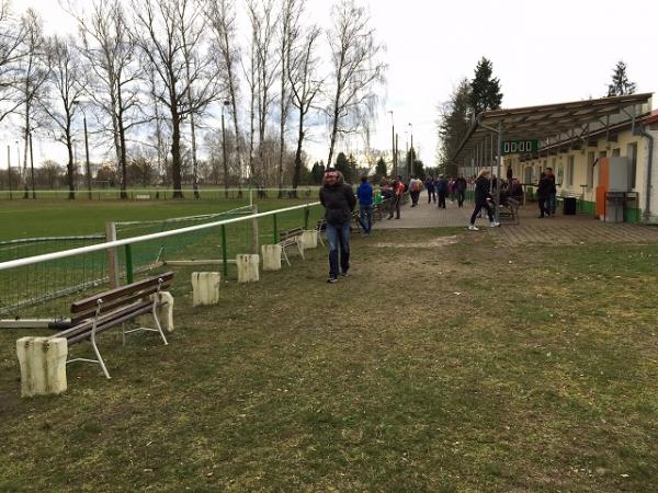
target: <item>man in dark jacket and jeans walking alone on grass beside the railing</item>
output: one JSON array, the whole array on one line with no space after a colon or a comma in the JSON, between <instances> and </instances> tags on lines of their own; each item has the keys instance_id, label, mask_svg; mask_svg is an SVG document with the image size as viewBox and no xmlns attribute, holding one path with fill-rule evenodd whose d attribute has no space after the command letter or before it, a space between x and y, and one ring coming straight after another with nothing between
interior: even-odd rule
<instances>
[{"instance_id":1,"label":"man in dark jacket and jeans walking alone on grass beside the railing","mask_svg":"<svg viewBox=\"0 0 658 493\"><path fill-rule=\"evenodd\" d=\"M334 168L327 168L320 188L320 203L325 207L327 241L329 242L329 279L338 280L340 250L340 271L347 277L350 270L350 222L356 197L352 187L344 183L343 176Z\"/></svg>"}]
</instances>

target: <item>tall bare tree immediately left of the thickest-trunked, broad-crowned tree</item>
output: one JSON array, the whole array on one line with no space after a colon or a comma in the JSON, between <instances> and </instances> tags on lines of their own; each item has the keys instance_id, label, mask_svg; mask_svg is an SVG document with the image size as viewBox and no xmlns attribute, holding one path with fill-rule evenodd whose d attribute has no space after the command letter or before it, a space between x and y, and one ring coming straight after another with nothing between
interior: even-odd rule
<instances>
[{"instance_id":1,"label":"tall bare tree immediately left of the thickest-trunked, broad-crowned tree","mask_svg":"<svg viewBox=\"0 0 658 493\"><path fill-rule=\"evenodd\" d=\"M127 198L126 135L141 123L138 83L141 69L137 48L120 0L94 0L89 18L77 15L82 54L90 70L89 96L102 112L101 131L110 133L117 169L121 197Z\"/></svg>"}]
</instances>

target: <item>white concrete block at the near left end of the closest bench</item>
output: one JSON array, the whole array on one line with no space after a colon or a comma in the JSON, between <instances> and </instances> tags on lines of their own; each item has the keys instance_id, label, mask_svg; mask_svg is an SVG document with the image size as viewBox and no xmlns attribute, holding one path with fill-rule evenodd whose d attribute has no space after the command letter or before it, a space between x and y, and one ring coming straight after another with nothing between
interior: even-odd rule
<instances>
[{"instance_id":1,"label":"white concrete block at the near left end of the closest bench","mask_svg":"<svg viewBox=\"0 0 658 493\"><path fill-rule=\"evenodd\" d=\"M47 395L66 390L67 341L64 337L21 337L16 355L21 366L21 395Z\"/></svg>"}]
</instances>

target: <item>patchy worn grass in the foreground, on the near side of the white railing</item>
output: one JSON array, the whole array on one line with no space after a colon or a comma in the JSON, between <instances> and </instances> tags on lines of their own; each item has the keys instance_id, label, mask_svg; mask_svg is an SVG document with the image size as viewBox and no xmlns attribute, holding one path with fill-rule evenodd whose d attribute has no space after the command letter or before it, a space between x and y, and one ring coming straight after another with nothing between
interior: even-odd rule
<instances>
[{"instance_id":1,"label":"patchy worn grass in the foreground, on the near side of the white railing","mask_svg":"<svg viewBox=\"0 0 658 493\"><path fill-rule=\"evenodd\" d=\"M656 491L657 255L376 231L203 309L179 271L171 345L106 334L60 397L2 331L0 491Z\"/></svg>"}]
</instances>

